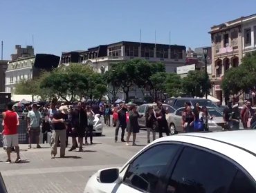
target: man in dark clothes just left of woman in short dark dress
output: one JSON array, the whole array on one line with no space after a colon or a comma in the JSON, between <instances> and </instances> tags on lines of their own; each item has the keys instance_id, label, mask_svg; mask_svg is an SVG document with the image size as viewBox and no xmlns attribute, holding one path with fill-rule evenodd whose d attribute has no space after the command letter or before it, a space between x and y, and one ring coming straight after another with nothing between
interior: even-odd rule
<instances>
[{"instance_id":1,"label":"man in dark clothes just left of woman in short dark dress","mask_svg":"<svg viewBox=\"0 0 256 193\"><path fill-rule=\"evenodd\" d=\"M121 103L120 109L118 110L118 123L116 124L115 142L118 141L118 132L119 132L120 127L122 129L121 141L125 142L125 139L124 139L124 137L125 137L125 128L127 127L126 112L127 112L127 108L125 106L125 103Z\"/></svg>"}]
</instances>

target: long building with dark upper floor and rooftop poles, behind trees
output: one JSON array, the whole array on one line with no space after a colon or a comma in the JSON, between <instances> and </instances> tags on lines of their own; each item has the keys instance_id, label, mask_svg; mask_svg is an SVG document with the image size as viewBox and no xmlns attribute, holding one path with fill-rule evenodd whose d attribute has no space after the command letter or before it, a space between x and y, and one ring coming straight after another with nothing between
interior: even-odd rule
<instances>
[{"instance_id":1,"label":"long building with dark upper floor and rooftop poles, behind trees","mask_svg":"<svg viewBox=\"0 0 256 193\"><path fill-rule=\"evenodd\" d=\"M155 43L120 41L109 45L98 45L86 51L63 52L61 64L68 64L73 58L79 63L93 66L96 72L105 72L112 63L130 59L146 59L150 62L162 62L167 72L174 72L176 67L185 64L185 46ZM75 55L75 56L74 56Z\"/></svg>"}]
</instances>

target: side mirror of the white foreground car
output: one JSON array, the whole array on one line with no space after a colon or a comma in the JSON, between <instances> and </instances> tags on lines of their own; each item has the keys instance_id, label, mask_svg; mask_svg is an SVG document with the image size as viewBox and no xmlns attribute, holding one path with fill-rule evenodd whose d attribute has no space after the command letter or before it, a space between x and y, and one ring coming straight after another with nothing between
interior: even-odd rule
<instances>
[{"instance_id":1,"label":"side mirror of the white foreground car","mask_svg":"<svg viewBox=\"0 0 256 193\"><path fill-rule=\"evenodd\" d=\"M113 183L119 178L118 168L99 170L97 179L100 183Z\"/></svg>"}]
</instances>

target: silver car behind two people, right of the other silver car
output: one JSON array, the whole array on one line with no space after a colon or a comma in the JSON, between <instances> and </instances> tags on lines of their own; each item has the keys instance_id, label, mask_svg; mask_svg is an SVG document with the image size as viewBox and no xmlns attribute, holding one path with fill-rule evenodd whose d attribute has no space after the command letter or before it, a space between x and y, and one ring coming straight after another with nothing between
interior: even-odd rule
<instances>
[{"instance_id":1,"label":"silver car behind two people, right of the other silver car","mask_svg":"<svg viewBox=\"0 0 256 193\"><path fill-rule=\"evenodd\" d=\"M182 112L184 108L177 109L174 113L170 114L167 119L170 126L170 133L176 134L178 132L184 132L181 124ZM224 126L222 113L214 108L208 108L208 128L210 132L222 131Z\"/></svg>"}]
</instances>

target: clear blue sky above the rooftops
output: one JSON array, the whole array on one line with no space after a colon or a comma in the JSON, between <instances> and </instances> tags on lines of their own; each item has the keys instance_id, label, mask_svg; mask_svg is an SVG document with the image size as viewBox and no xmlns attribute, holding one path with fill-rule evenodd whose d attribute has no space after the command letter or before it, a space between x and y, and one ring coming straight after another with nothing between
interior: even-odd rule
<instances>
[{"instance_id":1,"label":"clear blue sky above the rooftops","mask_svg":"<svg viewBox=\"0 0 256 193\"><path fill-rule=\"evenodd\" d=\"M86 50L116 41L210 45L210 27L256 13L255 0L1 0L3 59L15 45L36 53Z\"/></svg>"}]
</instances>

